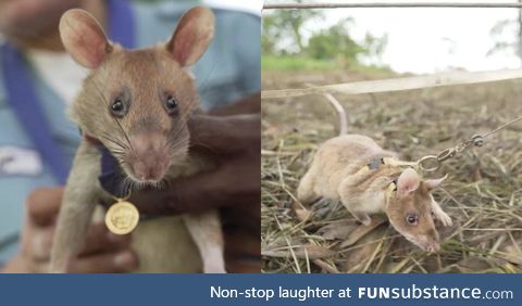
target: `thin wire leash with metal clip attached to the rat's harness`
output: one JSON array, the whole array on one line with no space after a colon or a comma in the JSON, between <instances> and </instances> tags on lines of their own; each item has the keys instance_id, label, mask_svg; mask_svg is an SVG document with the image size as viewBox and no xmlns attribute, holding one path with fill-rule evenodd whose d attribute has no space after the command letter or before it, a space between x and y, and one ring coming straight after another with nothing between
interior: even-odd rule
<instances>
[{"instance_id":1,"label":"thin wire leash with metal clip attached to the rat's harness","mask_svg":"<svg viewBox=\"0 0 522 306\"><path fill-rule=\"evenodd\" d=\"M417 166L423 170L424 173L434 173L436 170L438 170L442 165L443 165L443 162L451 158L451 157L455 157L457 156L458 154L462 153L463 151L465 151L467 149L471 148L471 146L476 146L476 148L480 148L482 145L484 145L484 142L485 140L507 128L508 126L510 125L513 125L518 122L522 120L522 116L518 117L518 118L514 118L499 127L497 127L496 129L494 130L490 130L484 135L474 135L472 136L470 139L465 140L465 141L462 141L461 143L455 145L455 146L451 146L451 148L448 148L448 149L445 149L443 151L440 151L437 155L426 155L422 158L420 158L419 161L415 162Z\"/></svg>"}]
</instances>

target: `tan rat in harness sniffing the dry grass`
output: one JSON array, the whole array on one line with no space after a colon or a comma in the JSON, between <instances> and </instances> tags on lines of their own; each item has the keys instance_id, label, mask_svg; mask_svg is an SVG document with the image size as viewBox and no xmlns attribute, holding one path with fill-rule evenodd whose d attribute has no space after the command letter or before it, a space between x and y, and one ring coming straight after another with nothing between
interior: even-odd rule
<instances>
[{"instance_id":1,"label":"tan rat in harness sniffing the dry grass","mask_svg":"<svg viewBox=\"0 0 522 306\"><path fill-rule=\"evenodd\" d=\"M340 201L364 226L371 224L371 215L384 213L407 240L423 251L437 252L440 242L434 218L445 227L452 222L431 192L447 175L424 180L411 167L413 163L399 161L397 153L383 150L369 137L345 133L347 126L340 130L319 148L299 182L298 201L304 205L320 197Z\"/></svg>"}]
</instances>

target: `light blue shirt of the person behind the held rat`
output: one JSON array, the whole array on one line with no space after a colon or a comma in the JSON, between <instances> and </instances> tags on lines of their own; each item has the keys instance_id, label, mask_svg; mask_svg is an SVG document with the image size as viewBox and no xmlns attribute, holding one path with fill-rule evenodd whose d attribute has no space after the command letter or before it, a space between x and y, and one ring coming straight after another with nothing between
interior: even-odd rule
<instances>
[{"instance_id":1,"label":"light blue shirt of the person behind the held rat","mask_svg":"<svg viewBox=\"0 0 522 306\"><path fill-rule=\"evenodd\" d=\"M177 20L191 4L133 4L138 47L166 41ZM261 87L260 17L248 13L214 10L214 39L204 55L191 68L196 75L203 109L231 103ZM1 54L0 54L1 56ZM54 142L71 163L79 142L77 127L65 116L65 103L33 74L36 93L51 125ZM24 170L24 163L39 158L36 150L5 101L3 73L0 72L0 263L16 252L27 195L36 188L57 186L46 161L36 173ZM12 165L18 163L20 169ZM9 168L7 165L11 165Z\"/></svg>"}]
</instances>

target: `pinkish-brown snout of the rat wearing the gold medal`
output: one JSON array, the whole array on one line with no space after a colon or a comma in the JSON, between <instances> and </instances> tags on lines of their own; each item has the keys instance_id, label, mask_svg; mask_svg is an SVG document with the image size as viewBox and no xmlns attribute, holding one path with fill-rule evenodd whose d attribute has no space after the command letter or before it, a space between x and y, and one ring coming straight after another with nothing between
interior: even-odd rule
<instances>
[{"instance_id":1,"label":"pinkish-brown snout of the rat wearing the gold medal","mask_svg":"<svg viewBox=\"0 0 522 306\"><path fill-rule=\"evenodd\" d=\"M159 181L169 168L166 138L160 132L144 132L130 137L129 165L140 181Z\"/></svg>"}]
</instances>

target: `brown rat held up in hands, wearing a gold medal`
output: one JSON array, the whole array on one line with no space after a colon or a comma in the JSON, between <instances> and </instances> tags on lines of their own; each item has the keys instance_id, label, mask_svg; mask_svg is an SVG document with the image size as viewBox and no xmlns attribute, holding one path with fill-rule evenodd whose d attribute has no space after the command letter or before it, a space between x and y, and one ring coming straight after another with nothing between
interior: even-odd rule
<instances>
[{"instance_id":1,"label":"brown rat held up in hands, wearing a gold medal","mask_svg":"<svg viewBox=\"0 0 522 306\"><path fill-rule=\"evenodd\" d=\"M148 49L125 50L109 41L99 23L79 9L65 12L59 29L67 53L90 74L70 109L84 137L58 216L51 272L66 271L99 203L114 202L99 181L100 143L117 162L132 190L162 187L167 179L215 167L209 156L189 153L187 126L198 110L198 93L187 68L212 40L210 9L188 10L166 43ZM226 272L223 247L215 209L142 220L133 232L140 271Z\"/></svg>"}]
</instances>

